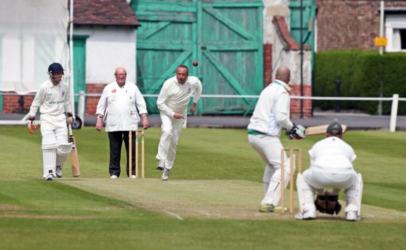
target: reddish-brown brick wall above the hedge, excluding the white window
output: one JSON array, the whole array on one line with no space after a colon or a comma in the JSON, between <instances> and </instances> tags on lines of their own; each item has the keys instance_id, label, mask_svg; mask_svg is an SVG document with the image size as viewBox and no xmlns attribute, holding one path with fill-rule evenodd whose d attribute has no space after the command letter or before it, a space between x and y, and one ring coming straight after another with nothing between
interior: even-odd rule
<instances>
[{"instance_id":1,"label":"reddish-brown brick wall above the hedge, excluding the white window","mask_svg":"<svg viewBox=\"0 0 406 250\"><path fill-rule=\"evenodd\" d=\"M317 50L377 49L380 1L316 0ZM406 7L406 2L385 1L385 8ZM385 34L385 33L384 33Z\"/></svg>"}]
</instances>

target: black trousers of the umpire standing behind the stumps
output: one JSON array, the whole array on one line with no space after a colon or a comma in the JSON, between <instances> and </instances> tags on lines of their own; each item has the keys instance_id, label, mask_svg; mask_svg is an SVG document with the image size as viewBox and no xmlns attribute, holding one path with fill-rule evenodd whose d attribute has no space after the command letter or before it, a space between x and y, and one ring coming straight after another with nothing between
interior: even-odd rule
<instances>
[{"instance_id":1,"label":"black trousers of the umpire standing behind the stumps","mask_svg":"<svg viewBox=\"0 0 406 250\"><path fill-rule=\"evenodd\" d=\"M109 164L109 172L111 175L120 176L120 160L121 160L121 146L124 141L125 151L127 152L127 177L129 176L129 143L128 143L128 131L114 131L108 132L109 133L109 141L110 141L110 164ZM136 145L136 135L135 132L132 133L131 138L132 144L132 174L136 174L136 155L135 155L135 145Z\"/></svg>"}]
</instances>

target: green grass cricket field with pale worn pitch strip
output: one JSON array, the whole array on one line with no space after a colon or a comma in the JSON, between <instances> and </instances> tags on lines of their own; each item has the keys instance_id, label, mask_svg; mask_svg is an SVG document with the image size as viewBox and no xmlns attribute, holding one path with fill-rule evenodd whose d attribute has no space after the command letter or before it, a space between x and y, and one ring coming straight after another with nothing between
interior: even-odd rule
<instances>
[{"instance_id":1,"label":"green grass cricket field with pale worn pitch strip","mask_svg":"<svg viewBox=\"0 0 406 250\"><path fill-rule=\"evenodd\" d=\"M81 176L68 160L61 179L44 181L41 134L0 127L1 249L406 249L405 132L346 133L364 181L356 223L343 211L315 221L258 212L264 164L245 130L183 130L170 181L155 170L160 129L146 132L144 180L125 178L124 167L109 178L106 132L74 133ZM306 169L322 138L282 143L303 149Z\"/></svg>"}]
</instances>

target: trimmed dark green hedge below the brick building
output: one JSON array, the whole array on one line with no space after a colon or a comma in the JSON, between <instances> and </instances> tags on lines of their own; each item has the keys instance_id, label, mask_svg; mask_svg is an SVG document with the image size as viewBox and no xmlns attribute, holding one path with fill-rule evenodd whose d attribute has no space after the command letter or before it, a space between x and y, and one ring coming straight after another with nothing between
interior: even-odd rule
<instances>
[{"instance_id":1,"label":"trimmed dark green hedge below the brick building","mask_svg":"<svg viewBox=\"0 0 406 250\"><path fill-rule=\"evenodd\" d=\"M406 97L406 53L361 50L330 50L315 54L315 97L335 97L335 81L341 81L341 97ZM392 102L383 102L383 114L390 114ZM314 107L334 109L335 101L313 101ZM359 109L376 114L378 101L341 101L342 109ZM406 114L406 103L399 102L398 114Z\"/></svg>"}]
</instances>

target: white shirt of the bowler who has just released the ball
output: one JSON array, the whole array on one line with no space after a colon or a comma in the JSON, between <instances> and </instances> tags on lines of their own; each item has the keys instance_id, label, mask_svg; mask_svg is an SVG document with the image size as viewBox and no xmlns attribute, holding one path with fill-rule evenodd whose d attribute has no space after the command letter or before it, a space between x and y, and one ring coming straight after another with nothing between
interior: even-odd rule
<instances>
[{"instance_id":1,"label":"white shirt of the bowler who has just released the ball","mask_svg":"<svg viewBox=\"0 0 406 250\"><path fill-rule=\"evenodd\" d=\"M171 117L175 112L186 115L190 98L193 95L193 102L197 103L201 89L201 82L197 77L189 76L184 84L180 84L174 76L163 83L156 104L161 112Z\"/></svg>"}]
</instances>

